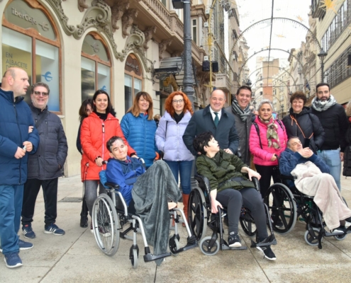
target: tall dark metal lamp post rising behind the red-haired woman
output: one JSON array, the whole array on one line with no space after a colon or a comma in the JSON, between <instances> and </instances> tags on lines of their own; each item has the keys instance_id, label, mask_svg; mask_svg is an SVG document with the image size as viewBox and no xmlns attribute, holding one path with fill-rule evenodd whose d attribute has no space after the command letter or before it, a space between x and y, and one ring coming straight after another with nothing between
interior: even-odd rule
<instances>
[{"instance_id":1,"label":"tall dark metal lamp post rising behind the red-haired woman","mask_svg":"<svg viewBox=\"0 0 351 283\"><path fill-rule=\"evenodd\" d=\"M192 59L191 59L191 15L190 15L190 1L183 2L183 16L184 16L184 79L183 79L183 92L188 96L191 101L193 110L194 107L194 79L193 79L193 69L192 69ZM211 62L210 62L211 68ZM193 167L191 168L191 190L196 187L195 175L195 161L193 162Z\"/></svg>"}]
</instances>

